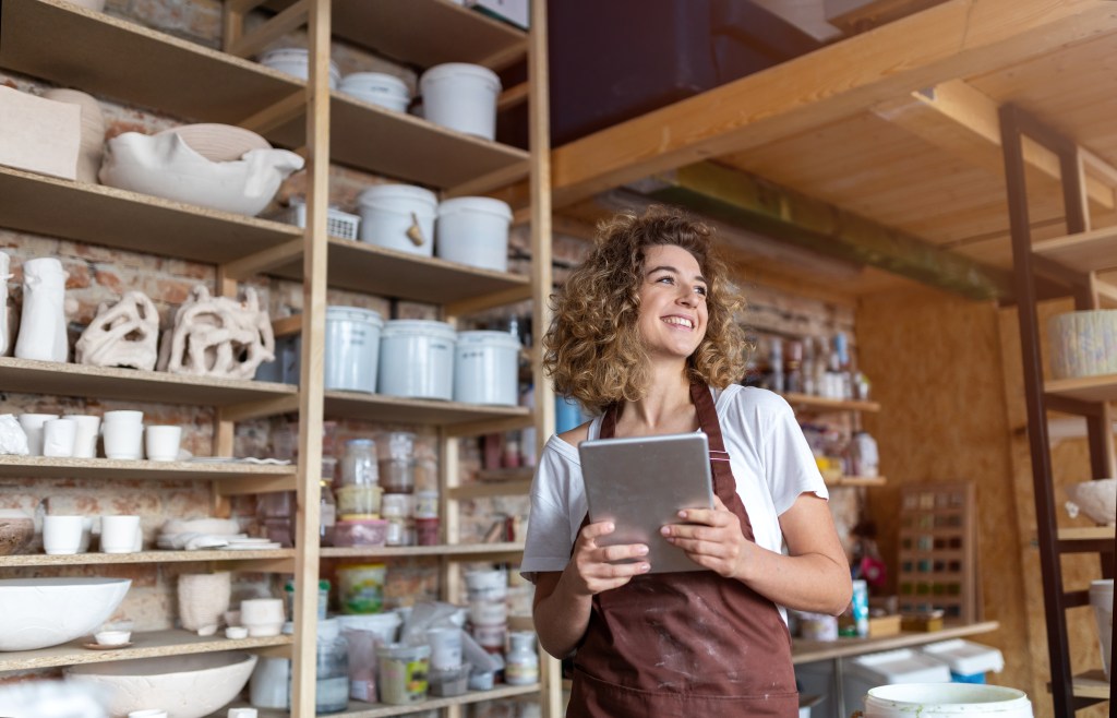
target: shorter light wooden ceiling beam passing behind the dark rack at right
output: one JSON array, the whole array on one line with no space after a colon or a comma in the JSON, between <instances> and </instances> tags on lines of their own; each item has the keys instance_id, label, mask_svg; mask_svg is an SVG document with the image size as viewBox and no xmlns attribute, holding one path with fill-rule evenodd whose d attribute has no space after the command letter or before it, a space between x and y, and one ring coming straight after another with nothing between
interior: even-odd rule
<instances>
[{"instance_id":1,"label":"shorter light wooden ceiling beam passing behind the dark rack at right","mask_svg":"<svg viewBox=\"0 0 1117 718\"><path fill-rule=\"evenodd\" d=\"M881 103L872 112L920 140L1002 176L1004 154L997 109L995 99L954 79ZM1053 152L1029 137L1024 137L1023 149L1029 167L1046 180L1058 182L1059 157ZM1091 202L1101 209L1114 209L1113 186L1087 174L1086 189Z\"/></svg>"}]
</instances>

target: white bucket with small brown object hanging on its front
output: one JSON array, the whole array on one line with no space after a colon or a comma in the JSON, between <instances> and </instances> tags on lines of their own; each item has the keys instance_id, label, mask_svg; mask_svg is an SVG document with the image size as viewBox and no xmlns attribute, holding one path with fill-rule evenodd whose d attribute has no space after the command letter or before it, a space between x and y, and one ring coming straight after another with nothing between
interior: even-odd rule
<instances>
[{"instance_id":1,"label":"white bucket with small brown object hanging on its front","mask_svg":"<svg viewBox=\"0 0 1117 718\"><path fill-rule=\"evenodd\" d=\"M412 255L435 253L438 198L410 184L378 184L356 199L361 241Z\"/></svg>"}]
</instances>

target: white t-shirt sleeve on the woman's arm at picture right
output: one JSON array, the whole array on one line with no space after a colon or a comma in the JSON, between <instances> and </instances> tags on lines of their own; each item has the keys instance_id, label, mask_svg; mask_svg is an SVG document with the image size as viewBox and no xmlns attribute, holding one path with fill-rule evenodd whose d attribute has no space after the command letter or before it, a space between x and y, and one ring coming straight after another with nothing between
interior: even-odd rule
<instances>
[{"instance_id":1,"label":"white t-shirt sleeve on the woman's arm at picture right","mask_svg":"<svg viewBox=\"0 0 1117 718\"><path fill-rule=\"evenodd\" d=\"M829 499L830 492L806 437L795 420L795 412L779 394L764 393L766 411L763 414L761 451L776 515L790 509L802 494Z\"/></svg>"}]
</instances>

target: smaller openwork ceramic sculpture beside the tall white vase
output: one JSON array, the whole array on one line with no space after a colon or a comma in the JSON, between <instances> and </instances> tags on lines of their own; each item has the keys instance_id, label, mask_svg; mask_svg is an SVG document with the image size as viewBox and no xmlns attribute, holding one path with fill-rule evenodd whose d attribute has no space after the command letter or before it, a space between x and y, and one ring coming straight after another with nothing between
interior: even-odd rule
<instances>
[{"instance_id":1,"label":"smaller openwork ceramic sculpture beside the tall white vase","mask_svg":"<svg viewBox=\"0 0 1117 718\"><path fill-rule=\"evenodd\" d=\"M159 312L142 291L102 304L74 346L74 361L151 371L159 358Z\"/></svg>"}]
</instances>

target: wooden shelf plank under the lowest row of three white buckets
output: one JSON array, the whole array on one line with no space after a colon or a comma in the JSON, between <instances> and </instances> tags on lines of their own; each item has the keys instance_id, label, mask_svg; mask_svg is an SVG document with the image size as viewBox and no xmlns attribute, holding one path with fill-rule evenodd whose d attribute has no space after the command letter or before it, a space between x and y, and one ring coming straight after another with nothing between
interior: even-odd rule
<instances>
[{"instance_id":1,"label":"wooden shelf plank under the lowest row of three white buckets","mask_svg":"<svg viewBox=\"0 0 1117 718\"><path fill-rule=\"evenodd\" d=\"M526 419L531 415L526 406L488 406L338 391L325 393L325 413L335 419L437 427L495 419Z\"/></svg>"}]
</instances>

